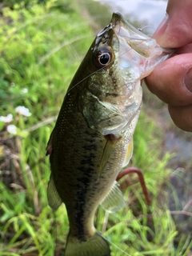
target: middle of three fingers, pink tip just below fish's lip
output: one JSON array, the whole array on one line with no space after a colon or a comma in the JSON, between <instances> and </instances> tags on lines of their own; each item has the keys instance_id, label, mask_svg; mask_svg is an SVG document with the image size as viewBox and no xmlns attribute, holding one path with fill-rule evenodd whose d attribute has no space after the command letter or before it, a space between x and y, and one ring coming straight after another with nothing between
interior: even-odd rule
<instances>
[{"instance_id":1,"label":"middle of three fingers, pink tip just below fish's lip","mask_svg":"<svg viewBox=\"0 0 192 256\"><path fill-rule=\"evenodd\" d=\"M176 55L160 63L146 78L150 91L171 106L192 103L192 54Z\"/></svg>"}]
</instances>

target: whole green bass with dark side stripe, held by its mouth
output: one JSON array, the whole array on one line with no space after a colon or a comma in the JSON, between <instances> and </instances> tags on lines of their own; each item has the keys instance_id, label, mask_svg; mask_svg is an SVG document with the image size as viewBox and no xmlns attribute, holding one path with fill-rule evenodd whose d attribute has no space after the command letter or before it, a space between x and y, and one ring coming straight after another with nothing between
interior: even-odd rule
<instances>
[{"instance_id":1,"label":"whole green bass with dark side stripe, held by its mouth","mask_svg":"<svg viewBox=\"0 0 192 256\"><path fill-rule=\"evenodd\" d=\"M66 256L111 255L94 214L125 205L115 180L133 153L141 80L171 54L116 12L74 74L46 147L48 203L57 210L63 202L69 218Z\"/></svg>"}]
</instances>

